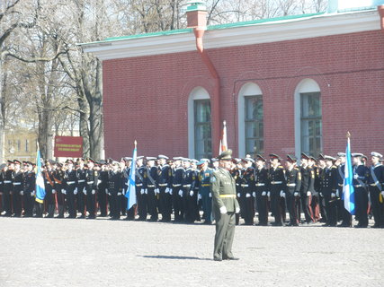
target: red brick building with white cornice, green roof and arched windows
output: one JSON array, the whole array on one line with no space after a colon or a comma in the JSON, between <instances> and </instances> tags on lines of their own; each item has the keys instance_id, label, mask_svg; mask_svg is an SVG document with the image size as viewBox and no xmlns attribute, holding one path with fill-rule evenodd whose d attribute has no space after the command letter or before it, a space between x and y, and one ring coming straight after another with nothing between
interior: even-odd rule
<instances>
[{"instance_id":1,"label":"red brick building with white cornice, green roof and arched windows","mask_svg":"<svg viewBox=\"0 0 384 287\"><path fill-rule=\"evenodd\" d=\"M103 60L105 155L384 152L384 6L83 44Z\"/></svg>"}]
</instances>

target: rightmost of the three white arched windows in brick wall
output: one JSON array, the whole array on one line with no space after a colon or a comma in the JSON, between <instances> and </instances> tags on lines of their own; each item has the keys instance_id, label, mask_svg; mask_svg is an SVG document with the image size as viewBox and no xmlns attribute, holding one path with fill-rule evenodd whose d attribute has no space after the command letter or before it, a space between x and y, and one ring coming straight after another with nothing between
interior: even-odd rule
<instances>
[{"instance_id":1,"label":"rightmost of the three white arched windows in brick wall","mask_svg":"<svg viewBox=\"0 0 384 287\"><path fill-rule=\"evenodd\" d=\"M318 156L323 152L321 91L312 79L302 80L295 90L295 153Z\"/></svg>"}]
</instances>

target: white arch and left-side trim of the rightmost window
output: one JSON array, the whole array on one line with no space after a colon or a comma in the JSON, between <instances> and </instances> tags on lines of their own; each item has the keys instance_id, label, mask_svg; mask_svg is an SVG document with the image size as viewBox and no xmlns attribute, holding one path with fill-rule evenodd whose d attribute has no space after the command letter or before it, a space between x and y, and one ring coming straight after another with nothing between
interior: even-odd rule
<instances>
[{"instance_id":1,"label":"white arch and left-side trim of the rightmost window","mask_svg":"<svg viewBox=\"0 0 384 287\"><path fill-rule=\"evenodd\" d=\"M300 102L300 94L306 92L320 92L320 86L313 79L304 79L302 80L296 87L295 90L295 98L294 98L294 110L295 110L295 155L300 158L301 154L301 102Z\"/></svg>"}]
</instances>

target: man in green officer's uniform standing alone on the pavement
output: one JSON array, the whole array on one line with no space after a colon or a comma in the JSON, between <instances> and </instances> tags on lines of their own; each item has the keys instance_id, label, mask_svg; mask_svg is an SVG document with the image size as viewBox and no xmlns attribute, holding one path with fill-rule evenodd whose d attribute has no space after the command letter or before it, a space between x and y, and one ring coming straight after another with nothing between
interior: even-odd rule
<instances>
[{"instance_id":1,"label":"man in green officer's uniform standing alone on the pavement","mask_svg":"<svg viewBox=\"0 0 384 287\"><path fill-rule=\"evenodd\" d=\"M210 178L212 212L216 220L215 248L213 259L238 260L232 255L232 242L235 235L235 213L240 212L236 198L235 179L229 173L232 151L220 153L219 169Z\"/></svg>"}]
</instances>

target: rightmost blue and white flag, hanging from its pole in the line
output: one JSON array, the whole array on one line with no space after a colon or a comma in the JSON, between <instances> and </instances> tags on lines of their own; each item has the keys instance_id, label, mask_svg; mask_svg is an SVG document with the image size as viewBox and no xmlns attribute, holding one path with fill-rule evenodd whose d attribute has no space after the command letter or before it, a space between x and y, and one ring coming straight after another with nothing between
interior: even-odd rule
<instances>
[{"instance_id":1,"label":"rightmost blue and white flag, hanging from its pole in the line","mask_svg":"<svg viewBox=\"0 0 384 287\"><path fill-rule=\"evenodd\" d=\"M353 188L353 169L351 161L351 143L348 137L348 142L345 150L345 166L344 166L344 186L343 199L345 209L354 215L354 188Z\"/></svg>"}]
</instances>

